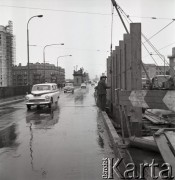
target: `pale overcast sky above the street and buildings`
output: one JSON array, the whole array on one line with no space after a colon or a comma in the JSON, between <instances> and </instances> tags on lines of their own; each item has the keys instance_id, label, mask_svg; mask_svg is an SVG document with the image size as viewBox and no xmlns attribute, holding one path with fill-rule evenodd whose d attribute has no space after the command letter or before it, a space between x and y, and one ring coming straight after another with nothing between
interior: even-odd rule
<instances>
[{"instance_id":1,"label":"pale overcast sky above the street and buildings","mask_svg":"<svg viewBox=\"0 0 175 180\"><path fill-rule=\"evenodd\" d=\"M117 0L133 22L142 23L142 32L151 37L175 19L175 0ZM122 40L125 30L114 11L113 49ZM13 21L16 36L16 64L27 63L27 21L29 23L30 62L43 62L43 47L64 43L64 46L46 48L46 62L66 70L66 78L72 78L73 69L83 67L91 78L106 71L106 58L111 43L111 0L0 0L0 24ZM158 19L152 19L156 17ZM129 24L126 21L126 25ZM129 29L129 28L128 28ZM144 40L143 40L144 42ZM175 46L175 22L151 39L165 57L171 55ZM149 48L149 47L148 47ZM150 51L152 51L149 48ZM154 63L142 47L144 63ZM159 65L163 62L158 56Z\"/></svg>"}]
</instances>

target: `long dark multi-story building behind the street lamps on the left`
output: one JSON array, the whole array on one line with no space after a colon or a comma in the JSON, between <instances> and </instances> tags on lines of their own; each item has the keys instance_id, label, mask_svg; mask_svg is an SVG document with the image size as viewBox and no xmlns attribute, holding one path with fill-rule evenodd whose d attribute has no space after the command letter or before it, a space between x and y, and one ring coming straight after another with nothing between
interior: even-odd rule
<instances>
[{"instance_id":1,"label":"long dark multi-story building behind the street lamps on the left","mask_svg":"<svg viewBox=\"0 0 175 180\"><path fill-rule=\"evenodd\" d=\"M56 67L54 64L45 64L45 78L44 78L44 64L43 63L30 63L30 85L44 83L44 82L54 82L57 84L65 83L65 70L61 67ZM27 66L13 67L13 85L23 86L27 85Z\"/></svg>"}]
</instances>

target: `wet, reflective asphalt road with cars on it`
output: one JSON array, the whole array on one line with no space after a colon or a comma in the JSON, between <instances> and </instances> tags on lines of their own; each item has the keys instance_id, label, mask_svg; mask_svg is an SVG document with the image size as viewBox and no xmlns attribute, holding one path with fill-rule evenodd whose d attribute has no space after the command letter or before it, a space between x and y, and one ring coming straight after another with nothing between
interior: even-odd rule
<instances>
[{"instance_id":1,"label":"wet, reflective asphalt road with cars on it","mask_svg":"<svg viewBox=\"0 0 175 180\"><path fill-rule=\"evenodd\" d=\"M0 180L100 180L114 157L93 87L61 93L52 110L0 107Z\"/></svg>"}]
</instances>

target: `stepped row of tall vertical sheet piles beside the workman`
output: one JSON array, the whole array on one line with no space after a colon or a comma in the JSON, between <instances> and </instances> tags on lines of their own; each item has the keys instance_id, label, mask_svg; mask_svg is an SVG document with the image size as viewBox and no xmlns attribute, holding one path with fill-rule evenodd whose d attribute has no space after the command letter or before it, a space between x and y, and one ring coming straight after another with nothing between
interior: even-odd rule
<instances>
[{"instance_id":1,"label":"stepped row of tall vertical sheet piles beside the workman","mask_svg":"<svg viewBox=\"0 0 175 180\"><path fill-rule=\"evenodd\" d=\"M107 58L107 83L111 86L107 92L107 103L114 123L122 129L123 136L129 131L134 135L141 135L142 108L121 107L119 101L119 91L141 90L141 69L141 24L131 23L130 33L124 34L119 46ZM126 118L129 118L130 130Z\"/></svg>"}]
</instances>

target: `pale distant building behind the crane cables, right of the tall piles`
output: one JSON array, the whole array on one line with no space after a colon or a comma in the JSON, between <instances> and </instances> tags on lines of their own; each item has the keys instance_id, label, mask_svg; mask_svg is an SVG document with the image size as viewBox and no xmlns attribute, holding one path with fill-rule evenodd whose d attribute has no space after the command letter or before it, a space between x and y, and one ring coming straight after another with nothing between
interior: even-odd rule
<instances>
[{"instance_id":1,"label":"pale distant building behind the crane cables, right of the tall piles","mask_svg":"<svg viewBox=\"0 0 175 180\"><path fill-rule=\"evenodd\" d=\"M149 78L151 79L156 75L164 75L170 73L169 66L156 66L155 64L144 64L144 67ZM147 78L147 75L143 68L142 68L142 78Z\"/></svg>"}]
</instances>

